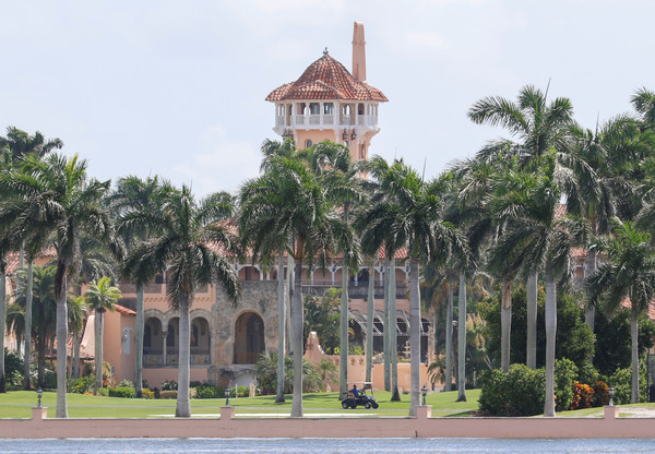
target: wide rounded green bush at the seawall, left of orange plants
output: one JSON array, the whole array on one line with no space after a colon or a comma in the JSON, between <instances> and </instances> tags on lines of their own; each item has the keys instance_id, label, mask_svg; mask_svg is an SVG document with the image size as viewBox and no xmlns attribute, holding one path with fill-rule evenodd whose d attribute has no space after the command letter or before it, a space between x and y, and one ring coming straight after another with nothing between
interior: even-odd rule
<instances>
[{"instance_id":1,"label":"wide rounded green bush at the seawall, left of orange plants","mask_svg":"<svg viewBox=\"0 0 655 454\"><path fill-rule=\"evenodd\" d=\"M544 369L510 366L509 372L493 369L483 372L479 407L492 416L532 416L544 411Z\"/></svg>"}]
</instances>

